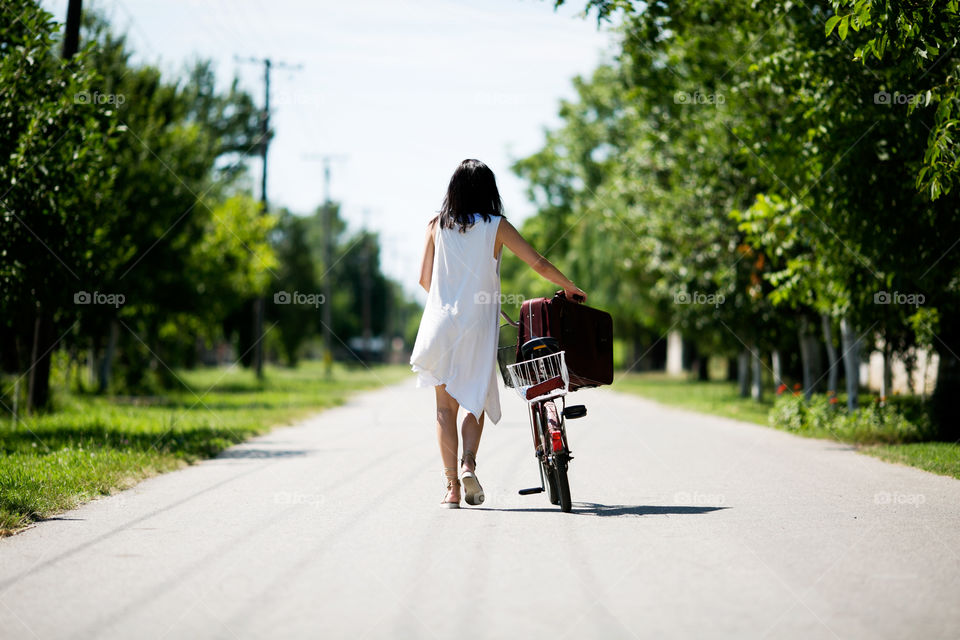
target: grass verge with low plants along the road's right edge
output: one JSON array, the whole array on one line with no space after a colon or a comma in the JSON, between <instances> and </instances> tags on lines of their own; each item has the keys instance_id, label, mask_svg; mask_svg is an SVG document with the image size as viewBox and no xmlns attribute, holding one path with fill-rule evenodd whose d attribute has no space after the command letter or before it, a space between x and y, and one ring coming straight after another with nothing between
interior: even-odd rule
<instances>
[{"instance_id":1,"label":"grass verge with low plants along the road's right edge","mask_svg":"<svg viewBox=\"0 0 960 640\"><path fill-rule=\"evenodd\" d=\"M799 399L792 395L779 398L774 412L776 396L757 403L741 398L734 383L702 382L663 373L628 373L618 378L613 388L670 406L773 426L805 437L848 442L882 460L960 479L960 445L923 441L929 438L929 425L924 424L916 399L896 399L889 409L881 410L872 404L873 396L865 395L864 409L850 416L843 409L838 413L831 408L829 399L822 395L802 409ZM838 401L843 407L845 396L839 396Z\"/></svg>"}]
</instances>

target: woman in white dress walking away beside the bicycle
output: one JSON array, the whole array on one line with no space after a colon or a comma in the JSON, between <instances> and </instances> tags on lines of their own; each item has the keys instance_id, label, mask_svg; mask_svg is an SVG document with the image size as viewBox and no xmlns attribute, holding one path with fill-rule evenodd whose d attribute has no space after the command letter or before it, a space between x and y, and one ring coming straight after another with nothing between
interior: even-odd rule
<instances>
[{"instance_id":1,"label":"woman in white dress walking away beside the bicycle","mask_svg":"<svg viewBox=\"0 0 960 640\"><path fill-rule=\"evenodd\" d=\"M477 480L477 449L487 414L500 421L496 378L500 315L500 254L503 246L534 271L563 287L570 300L587 294L527 243L503 217L493 172L479 160L464 160L453 172L440 214L427 225L420 285L427 304L410 364L417 386L437 396L437 440L447 482L441 506L460 507L460 482L467 504L483 502ZM457 474L457 412L463 456Z\"/></svg>"}]
</instances>

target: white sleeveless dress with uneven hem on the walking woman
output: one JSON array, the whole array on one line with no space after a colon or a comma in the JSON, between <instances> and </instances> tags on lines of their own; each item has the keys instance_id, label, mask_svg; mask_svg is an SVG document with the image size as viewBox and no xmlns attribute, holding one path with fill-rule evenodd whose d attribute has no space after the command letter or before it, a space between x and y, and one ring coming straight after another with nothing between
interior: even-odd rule
<instances>
[{"instance_id":1,"label":"white sleeveless dress with uneven hem on the walking woman","mask_svg":"<svg viewBox=\"0 0 960 640\"><path fill-rule=\"evenodd\" d=\"M410 364L418 387L446 384L447 393L479 419L500 421L497 334L500 257L493 257L500 216L473 214L459 226L433 234L433 277Z\"/></svg>"}]
</instances>

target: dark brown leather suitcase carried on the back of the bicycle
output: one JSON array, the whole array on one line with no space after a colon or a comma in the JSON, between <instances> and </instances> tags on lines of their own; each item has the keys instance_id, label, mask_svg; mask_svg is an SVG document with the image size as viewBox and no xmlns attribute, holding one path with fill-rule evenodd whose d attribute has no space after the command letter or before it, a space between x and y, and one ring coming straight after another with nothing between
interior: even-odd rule
<instances>
[{"instance_id":1,"label":"dark brown leather suitcase carried on the back of the bicycle","mask_svg":"<svg viewBox=\"0 0 960 640\"><path fill-rule=\"evenodd\" d=\"M556 338L566 354L570 391L613 382L613 318L606 311L567 300L563 291L553 298L534 298L520 306L517 360L527 340Z\"/></svg>"}]
</instances>

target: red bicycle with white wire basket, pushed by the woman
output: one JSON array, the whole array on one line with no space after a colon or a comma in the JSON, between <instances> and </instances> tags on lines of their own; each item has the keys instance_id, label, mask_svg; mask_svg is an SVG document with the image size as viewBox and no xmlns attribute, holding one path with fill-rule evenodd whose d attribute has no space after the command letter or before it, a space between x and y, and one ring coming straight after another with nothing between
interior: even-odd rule
<instances>
[{"instance_id":1,"label":"red bicycle with white wire basket, pushed by the woman","mask_svg":"<svg viewBox=\"0 0 960 640\"><path fill-rule=\"evenodd\" d=\"M500 315L509 324L519 327L503 310ZM564 351L556 338L532 338L520 345L520 360L516 360L517 340L512 345L497 347L497 363L503 383L512 388L527 403L533 446L540 467L540 486L520 489L520 495L547 491L551 504L560 505L560 510L569 513L573 508L570 497L570 482L567 477L570 461L573 460L570 441L567 437L566 420L587 415L584 405L567 405L566 395L570 387ZM558 410L557 401L562 408Z\"/></svg>"}]
</instances>

